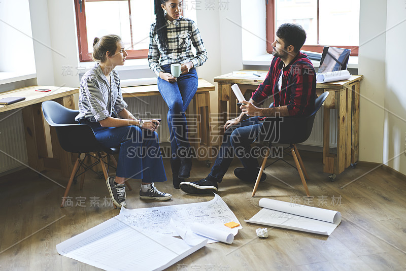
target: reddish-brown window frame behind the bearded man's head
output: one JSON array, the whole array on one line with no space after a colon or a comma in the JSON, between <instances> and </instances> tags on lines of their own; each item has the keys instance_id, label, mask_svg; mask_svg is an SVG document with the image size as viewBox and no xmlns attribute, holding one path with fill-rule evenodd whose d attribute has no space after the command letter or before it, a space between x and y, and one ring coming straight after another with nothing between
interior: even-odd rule
<instances>
[{"instance_id":1,"label":"reddish-brown window frame behind the bearded man's head","mask_svg":"<svg viewBox=\"0 0 406 271\"><path fill-rule=\"evenodd\" d=\"M266 5L266 52L272 54L272 43L276 35L276 22L275 22L275 1L267 0ZM358 46L344 46L344 45L321 45L319 44L319 0L317 0L317 45L303 45L300 50L322 53L324 46L339 47L351 49L351 56L358 56Z\"/></svg>"}]
</instances>

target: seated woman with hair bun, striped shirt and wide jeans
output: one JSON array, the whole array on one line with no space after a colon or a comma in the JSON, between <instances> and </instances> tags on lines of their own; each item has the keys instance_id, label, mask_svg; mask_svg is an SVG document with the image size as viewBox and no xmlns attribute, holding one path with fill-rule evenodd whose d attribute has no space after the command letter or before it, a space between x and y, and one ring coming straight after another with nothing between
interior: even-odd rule
<instances>
[{"instance_id":1,"label":"seated woman with hair bun, striped shirt and wide jeans","mask_svg":"<svg viewBox=\"0 0 406 271\"><path fill-rule=\"evenodd\" d=\"M117 35L107 35L93 42L93 59L97 61L80 81L80 124L93 128L97 141L106 148L120 146L115 177L106 180L113 203L126 207L125 184L129 178L142 179L140 198L166 200L171 194L160 192L153 182L166 181L159 150L158 120L138 120L127 109L114 70L124 65L127 52ZM115 116L115 113L117 116Z\"/></svg>"}]
</instances>

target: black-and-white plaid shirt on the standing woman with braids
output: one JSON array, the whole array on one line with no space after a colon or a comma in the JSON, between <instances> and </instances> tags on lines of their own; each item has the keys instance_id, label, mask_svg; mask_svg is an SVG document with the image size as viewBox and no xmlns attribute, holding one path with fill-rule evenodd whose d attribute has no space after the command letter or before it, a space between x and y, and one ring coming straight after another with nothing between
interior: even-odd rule
<instances>
[{"instance_id":1,"label":"black-and-white plaid shirt on the standing woman with braids","mask_svg":"<svg viewBox=\"0 0 406 271\"><path fill-rule=\"evenodd\" d=\"M193 66L197 67L206 62L207 51L194 21L181 16L177 20L166 20L166 27L168 45L166 52L159 44L156 23L151 25L149 33L148 64L157 76L159 72L164 72L162 65L192 61ZM192 44L196 48L196 56L192 53Z\"/></svg>"}]
</instances>

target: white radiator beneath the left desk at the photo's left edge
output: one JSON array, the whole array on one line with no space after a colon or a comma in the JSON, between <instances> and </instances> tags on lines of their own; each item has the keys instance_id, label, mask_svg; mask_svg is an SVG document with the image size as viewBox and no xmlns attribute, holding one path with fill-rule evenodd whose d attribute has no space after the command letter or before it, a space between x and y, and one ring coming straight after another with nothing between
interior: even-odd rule
<instances>
[{"instance_id":1,"label":"white radiator beneath the left desk at the photo's left edge","mask_svg":"<svg viewBox=\"0 0 406 271\"><path fill-rule=\"evenodd\" d=\"M0 173L22 165L20 162L28 163L24 125L20 109L0 114L0 150Z\"/></svg>"}]
</instances>

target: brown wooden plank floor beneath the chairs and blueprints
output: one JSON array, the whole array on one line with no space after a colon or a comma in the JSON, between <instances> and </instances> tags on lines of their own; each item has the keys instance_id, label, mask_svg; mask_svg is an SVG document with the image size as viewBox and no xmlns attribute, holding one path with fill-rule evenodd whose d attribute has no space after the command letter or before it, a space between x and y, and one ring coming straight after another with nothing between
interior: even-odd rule
<instances>
[{"instance_id":1,"label":"brown wooden plank floor beneath the chairs and blueprints","mask_svg":"<svg viewBox=\"0 0 406 271\"><path fill-rule=\"evenodd\" d=\"M343 220L330 236L273 228L267 239L256 237L259 226L248 224L260 208L261 197L303 204L304 189L296 170L278 162L267 168L268 179L260 183L251 198L253 184L233 176L234 160L219 187L219 195L240 220L243 229L231 245L209 244L168 270L405 270L406 268L406 179L391 175L382 167L359 163L330 182L322 172L320 153L301 151L310 175L309 190L316 207L340 211ZM170 173L168 161L164 161ZM190 180L206 177L210 169L195 161ZM276 178L293 186L294 189ZM57 172L45 172L51 180L66 185ZM341 189L343 185L355 180ZM129 209L186 204L210 200L174 189L170 181L157 184L173 194L167 202L140 200L139 181L132 180L127 191ZM95 270L87 264L60 256L55 245L81 233L119 211L103 206L109 197L103 180L88 174L84 189L71 189L73 206L59 208L64 189L45 177L23 170L0 181L0 270ZM84 206L80 199L85 198ZM90 206L90 197L99 197L99 207ZM334 197L334 200L333 200ZM325 199L327 198L327 202ZM327 206L323 205L323 201ZM119 249L119 246L117 246ZM159 257L159 255L156 255ZM113 252L112 259L120 260Z\"/></svg>"}]
</instances>

